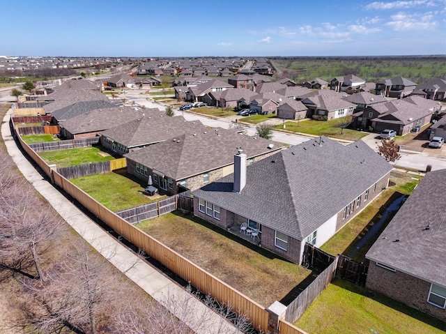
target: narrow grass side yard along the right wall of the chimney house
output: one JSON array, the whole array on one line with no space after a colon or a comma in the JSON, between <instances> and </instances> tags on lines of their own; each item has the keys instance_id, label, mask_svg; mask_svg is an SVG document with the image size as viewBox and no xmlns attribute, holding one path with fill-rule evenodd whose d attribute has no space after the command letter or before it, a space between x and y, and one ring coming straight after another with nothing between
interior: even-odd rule
<instances>
[{"instance_id":1,"label":"narrow grass side yard along the right wall of the chimney house","mask_svg":"<svg viewBox=\"0 0 446 334\"><path fill-rule=\"evenodd\" d=\"M388 187L383 193L378 195L378 197L364 208L361 213L355 216L355 218L342 227L337 234L334 234L334 236L324 243L321 246L321 250L328 252L331 255L346 255L348 252L355 249L355 244L359 242L362 236L367 233L368 229L374 225L374 222L380 218L380 210L383 210L386 205L390 204L389 200L400 194L410 195L415 189L415 186L420 183L420 180L422 179L422 176L417 176L416 179L419 180L413 180L412 177L413 175L411 174L391 172L390 181L395 183L395 185ZM371 238L367 244L356 253L353 259L356 261L365 261L367 251L376 241L376 238L378 238L387 223L383 225L378 233L376 233L374 238Z\"/></svg>"}]
</instances>

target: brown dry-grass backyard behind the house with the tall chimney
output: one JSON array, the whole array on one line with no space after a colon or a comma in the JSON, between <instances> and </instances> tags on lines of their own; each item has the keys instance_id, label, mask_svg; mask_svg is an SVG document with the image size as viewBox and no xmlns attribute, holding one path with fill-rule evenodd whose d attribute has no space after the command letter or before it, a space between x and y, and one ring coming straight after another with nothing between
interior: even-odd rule
<instances>
[{"instance_id":1,"label":"brown dry-grass backyard behind the house with the tall chimney","mask_svg":"<svg viewBox=\"0 0 446 334\"><path fill-rule=\"evenodd\" d=\"M136 226L266 307L311 273L199 218L169 213Z\"/></svg>"}]
</instances>

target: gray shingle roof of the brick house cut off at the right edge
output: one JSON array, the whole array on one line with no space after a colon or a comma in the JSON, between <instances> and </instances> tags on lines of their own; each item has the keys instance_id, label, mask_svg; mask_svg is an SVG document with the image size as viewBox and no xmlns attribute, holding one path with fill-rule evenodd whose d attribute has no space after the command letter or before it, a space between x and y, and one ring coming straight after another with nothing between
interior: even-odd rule
<instances>
[{"instance_id":1,"label":"gray shingle roof of the brick house cut off at the right edge","mask_svg":"<svg viewBox=\"0 0 446 334\"><path fill-rule=\"evenodd\" d=\"M446 287L445 179L446 169L424 176L367 252L367 259Z\"/></svg>"}]
</instances>

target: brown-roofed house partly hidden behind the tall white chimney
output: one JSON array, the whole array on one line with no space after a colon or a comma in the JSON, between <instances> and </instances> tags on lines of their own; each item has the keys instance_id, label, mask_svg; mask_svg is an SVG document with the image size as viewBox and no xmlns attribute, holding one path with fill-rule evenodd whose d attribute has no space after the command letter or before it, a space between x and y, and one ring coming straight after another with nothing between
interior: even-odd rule
<instances>
[{"instance_id":1,"label":"brown-roofed house partly hidden behind the tall white chimney","mask_svg":"<svg viewBox=\"0 0 446 334\"><path fill-rule=\"evenodd\" d=\"M243 147L248 163L257 163L282 146L235 130L206 128L185 132L169 140L125 154L128 172L140 179L152 176L160 192L176 194L180 189L196 190L233 173L233 151Z\"/></svg>"}]
</instances>

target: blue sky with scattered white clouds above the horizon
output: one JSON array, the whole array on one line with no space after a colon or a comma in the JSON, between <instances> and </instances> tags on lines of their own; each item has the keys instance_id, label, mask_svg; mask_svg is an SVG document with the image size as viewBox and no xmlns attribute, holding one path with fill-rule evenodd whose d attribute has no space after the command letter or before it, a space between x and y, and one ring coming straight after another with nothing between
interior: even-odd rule
<instances>
[{"instance_id":1,"label":"blue sky with scattered white clouds above the horizon","mask_svg":"<svg viewBox=\"0 0 446 334\"><path fill-rule=\"evenodd\" d=\"M446 54L446 0L0 0L0 55Z\"/></svg>"}]
</instances>

